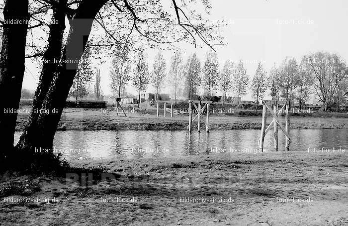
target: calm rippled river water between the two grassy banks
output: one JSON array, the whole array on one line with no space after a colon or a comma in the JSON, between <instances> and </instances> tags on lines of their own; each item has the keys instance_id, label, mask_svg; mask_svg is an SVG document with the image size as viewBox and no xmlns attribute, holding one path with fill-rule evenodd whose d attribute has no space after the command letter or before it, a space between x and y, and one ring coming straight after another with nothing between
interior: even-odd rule
<instances>
[{"instance_id":1,"label":"calm rippled river water between the two grassy banks","mask_svg":"<svg viewBox=\"0 0 348 226\"><path fill-rule=\"evenodd\" d=\"M348 152L347 129L291 129L290 151L318 151L325 148L344 148ZM274 151L273 131L264 141L264 151ZM20 133L15 133L17 142ZM285 150L285 138L278 134L279 151ZM57 131L55 152L62 152L67 160L79 158L108 159L183 156L207 154L257 154L260 130L238 129L202 131ZM38 150L39 151L39 150Z\"/></svg>"}]
</instances>

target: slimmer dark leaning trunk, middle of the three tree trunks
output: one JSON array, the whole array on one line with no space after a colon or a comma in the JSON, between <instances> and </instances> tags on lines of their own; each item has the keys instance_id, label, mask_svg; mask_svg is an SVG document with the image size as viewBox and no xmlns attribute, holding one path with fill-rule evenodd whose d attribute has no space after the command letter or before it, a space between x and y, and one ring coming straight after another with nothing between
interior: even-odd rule
<instances>
[{"instance_id":1,"label":"slimmer dark leaning trunk, middle of the three tree trunks","mask_svg":"<svg viewBox=\"0 0 348 226\"><path fill-rule=\"evenodd\" d=\"M31 143L35 139L35 131L37 130L39 113L33 110L42 108L42 103L47 95L48 89L53 80L54 73L57 72L59 61L61 58L63 34L65 29L67 0L60 0L54 8L52 21L58 21L50 24L50 33L47 42L47 50L44 53L44 63L42 66L39 84L35 91L32 111L28 121L20 136L18 147L23 147L25 143ZM33 135L34 137L30 137Z\"/></svg>"}]
</instances>

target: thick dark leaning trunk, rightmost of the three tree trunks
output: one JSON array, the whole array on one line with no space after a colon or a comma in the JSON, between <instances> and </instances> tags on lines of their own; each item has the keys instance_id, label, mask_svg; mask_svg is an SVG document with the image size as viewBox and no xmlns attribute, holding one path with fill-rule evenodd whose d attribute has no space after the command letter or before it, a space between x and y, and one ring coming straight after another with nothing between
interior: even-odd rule
<instances>
[{"instance_id":1,"label":"thick dark leaning trunk, rightmost of the three tree trunks","mask_svg":"<svg viewBox=\"0 0 348 226\"><path fill-rule=\"evenodd\" d=\"M70 21L70 31L67 44L63 49L61 63L42 103L42 109L49 110L49 113L39 113L38 120L33 125L35 129L28 131L17 144L20 149L33 152L35 148L39 147L52 148L65 101L77 73L78 64L75 62L81 59L93 19L105 2L106 0L85 0L80 3L74 19ZM71 60L75 62L70 63Z\"/></svg>"}]
</instances>

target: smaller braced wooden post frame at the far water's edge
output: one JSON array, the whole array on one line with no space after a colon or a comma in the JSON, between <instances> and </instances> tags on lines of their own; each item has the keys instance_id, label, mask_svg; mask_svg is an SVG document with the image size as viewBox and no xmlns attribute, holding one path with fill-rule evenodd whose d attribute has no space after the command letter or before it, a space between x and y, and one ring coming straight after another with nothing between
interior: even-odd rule
<instances>
[{"instance_id":1,"label":"smaller braced wooden post frame at the far water's edge","mask_svg":"<svg viewBox=\"0 0 348 226\"><path fill-rule=\"evenodd\" d=\"M207 132L209 132L209 106L210 106L211 101L188 101L188 126L187 129L189 132L191 132L192 130L192 122L198 118L198 132L200 132L201 129L201 120L202 120L202 112L206 109L207 114L206 114L206 120L203 120L203 123L205 124L205 129ZM198 104L198 107L197 105ZM205 104L202 108L202 104ZM192 106L195 108L195 110L197 111L196 116L194 116L194 118L192 119Z\"/></svg>"}]
</instances>

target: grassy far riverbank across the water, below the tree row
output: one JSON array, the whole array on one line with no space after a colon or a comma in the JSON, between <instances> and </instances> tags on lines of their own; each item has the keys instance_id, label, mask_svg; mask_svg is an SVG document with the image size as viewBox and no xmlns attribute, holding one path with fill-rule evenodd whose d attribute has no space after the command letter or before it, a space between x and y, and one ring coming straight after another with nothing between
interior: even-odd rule
<instances>
[{"instance_id":1,"label":"grassy far riverbank across the water, below the tree row","mask_svg":"<svg viewBox=\"0 0 348 226\"><path fill-rule=\"evenodd\" d=\"M29 108L24 106L23 108ZM131 113L131 109L127 109L128 117L120 114L119 116L113 112L113 108L109 108L111 113L105 113L100 109L78 109L66 108L58 125L58 130L127 130L127 129L144 129L144 130L185 130L188 125L188 115L170 114L156 117L156 111L151 109L146 113L144 110L136 110ZM238 112L235 114L213 114L210 116L210 129L261 129L261 116L245 116L251 113ZM169 115L169 116L168 116ZM320 115L320 116L318 116ZM26 123L29 113L19 113L17 117L16 130L21 131ZM304 114L291 115L290 128L300 129L324 129L324 128L346 128L348 121L346 113L338 114ZM285 123L284 117L280 117L280 121ZM270 122L271 116L268 116ZM204 124L202 123L202 126ZM196 121L193 128L197 127ZM204 129L204 127L203 127Z\"/></svg>"}]
</instances>

